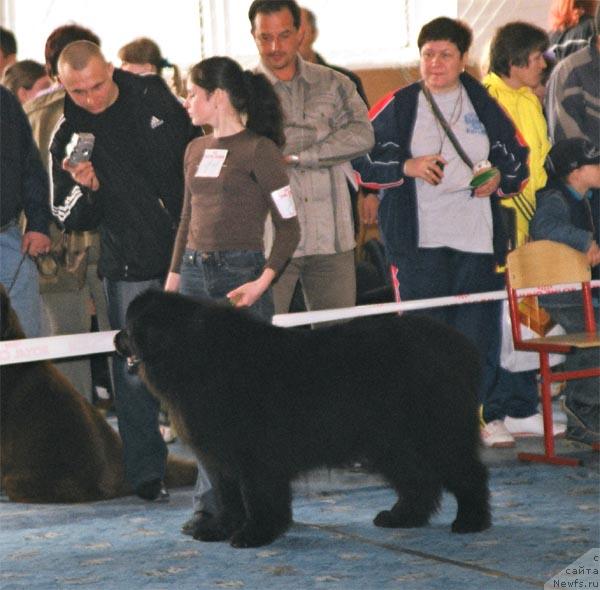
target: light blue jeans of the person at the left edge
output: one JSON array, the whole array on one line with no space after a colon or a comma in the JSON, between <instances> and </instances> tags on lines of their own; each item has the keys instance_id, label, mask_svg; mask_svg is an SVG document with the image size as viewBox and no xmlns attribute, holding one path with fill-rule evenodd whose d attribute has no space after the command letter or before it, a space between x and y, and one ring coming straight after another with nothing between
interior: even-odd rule
<instances>
[{"instance_id":1,"label":"light blue jeans of the person at the left edge","mask_svg":"<svg viewBox=\"0 0 600 590\"><path fill-rule=\"evenodd\" d=\"M25 336L37 338L40 336L41 324L38 270L29 256L23 257L22 239L23 234L16 222L0 233L0 282L7 291L12 284L10 303L17 313Z\"/></svg>"}]
</instances>

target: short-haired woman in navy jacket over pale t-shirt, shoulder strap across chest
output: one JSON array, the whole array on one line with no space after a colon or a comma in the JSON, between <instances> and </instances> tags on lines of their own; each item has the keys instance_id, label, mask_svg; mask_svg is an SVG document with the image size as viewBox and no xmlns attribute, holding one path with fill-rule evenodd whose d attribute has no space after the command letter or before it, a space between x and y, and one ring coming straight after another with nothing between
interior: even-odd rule
<instances>
[{"instance_id":1,"label":"short-haired woman in navy jacket over pale t-shirt, shoulder strap across chest","mask_svg":"<svg viewBox=\"0 0 600 590\"><path fill-rule=\"evenodd\" d=\"M375 147L354 162L364 186L385 189L379 224L402 300L502 286L496 267L504 262L507 234L499 201L518 192L527 179L528 148L485 88L464 72L471 40L466 25L446 17L421 29L422 80L375 105ZM436 108L466 157L448 138ZM489 173L473 188L476 170ZM497 357L499 304L425 313L475 342L484 366L488 354ZM481 391L487 387L484 372Z\"/></svg>"}]
</instances>

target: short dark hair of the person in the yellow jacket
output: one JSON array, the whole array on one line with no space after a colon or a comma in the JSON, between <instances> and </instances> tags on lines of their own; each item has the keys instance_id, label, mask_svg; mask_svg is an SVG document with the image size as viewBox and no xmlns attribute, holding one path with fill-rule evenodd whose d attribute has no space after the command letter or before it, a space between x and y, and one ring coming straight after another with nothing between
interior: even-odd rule
<instances>
[{"instance_id":1,"label":"short dark hair of the person in the yellow jacket","mask_svg":"<svg viewBox=\"0 0 600 590\"><path fill-rule=\"evenodd\" d=\"M515 21L500 27L490 45L490 71L510 76L511 66L524 67L534 51L548 49L546 31L530 23Z\"/></svg>"}]
</instances>

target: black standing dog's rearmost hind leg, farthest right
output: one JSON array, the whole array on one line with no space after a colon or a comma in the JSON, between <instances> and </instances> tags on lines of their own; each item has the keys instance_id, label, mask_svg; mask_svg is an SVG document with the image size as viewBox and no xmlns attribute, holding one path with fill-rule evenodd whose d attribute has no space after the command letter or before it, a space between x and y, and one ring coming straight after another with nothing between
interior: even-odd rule
<instances>
[{"instance_id":1,"label":"black standing dog's rearmost hind leg, farthest right","mask_svg":"<svg viewBox=\"0 0 600 590\"><path fill-rule=\"evenodd\" d=\"M477 533L491 526L487 469L479 459L448 474L444 486L458 504L453 533Z\"/></svg>"}]
</instances>

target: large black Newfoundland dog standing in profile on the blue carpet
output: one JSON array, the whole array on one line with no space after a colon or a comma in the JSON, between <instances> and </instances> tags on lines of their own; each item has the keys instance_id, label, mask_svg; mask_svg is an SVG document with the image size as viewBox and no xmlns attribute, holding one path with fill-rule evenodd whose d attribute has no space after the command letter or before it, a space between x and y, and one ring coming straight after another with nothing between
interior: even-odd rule
<instances>
[{"instance_id":1,"label":"large black Newfoundland dog standing in profile on the blue carpet","mask_svg":"<svg viewBox=\"0 0 600 590\"><path fill-rule=\"evenodd\" d=\"M272 542L292 521L300 473L366 459L398 493L381 527L419 527L445 488L457 533L490 526L479 459L478 354L426 317L356 320L307 331L148 291L116 338L197 453L223 510L194 536Z\"/></svg>"}]
</instances>

